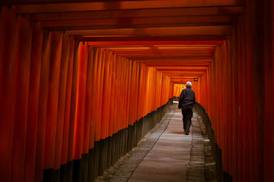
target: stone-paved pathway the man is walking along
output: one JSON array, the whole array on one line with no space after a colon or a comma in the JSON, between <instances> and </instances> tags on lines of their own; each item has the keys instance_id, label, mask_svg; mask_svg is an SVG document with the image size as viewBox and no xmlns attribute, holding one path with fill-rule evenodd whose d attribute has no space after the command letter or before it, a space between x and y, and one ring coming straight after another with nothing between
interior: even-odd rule
<instances>
[{"instance_id":1,"label":"stone-paved pathway the man is walking along","mask_svg":"<svg viewBox=\"0 0 274 182\"><path fill-rule=\"evenodd\" d=\"M197 114L185 135L181 110L173 104L110 181L205 181L204 156Z\"/></svg>"}]
</instances>

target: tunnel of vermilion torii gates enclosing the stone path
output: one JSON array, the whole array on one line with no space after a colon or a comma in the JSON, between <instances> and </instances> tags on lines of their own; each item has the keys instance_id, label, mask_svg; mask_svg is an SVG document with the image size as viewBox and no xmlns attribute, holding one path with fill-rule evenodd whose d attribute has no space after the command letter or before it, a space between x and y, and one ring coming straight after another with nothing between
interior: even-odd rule
<instances>
[{"instance_id":1,"label":"tunnel of vermilion torii gates enclosing the stone path","mask_svg":"<svg viewBox=\"0 0 274 182\"><path fill-rule=\"evenodd\" d=\"M94 180L186 81L221 170L274 181L273 1L0 5L0 181Z\"/></svg>"}]
</instances>

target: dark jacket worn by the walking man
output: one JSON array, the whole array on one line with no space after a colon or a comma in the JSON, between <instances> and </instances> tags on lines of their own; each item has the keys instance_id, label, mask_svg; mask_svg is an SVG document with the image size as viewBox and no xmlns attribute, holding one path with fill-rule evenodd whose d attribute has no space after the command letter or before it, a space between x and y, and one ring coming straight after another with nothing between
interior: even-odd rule
<instances>
[{"instance_id":1,"label":"dark jacket worn by the walking man","mask_svg":"<svg viewBox=\"0 0 274 182\"><path fill-rule=\"evenodd\" d=\"M182 90L179 96L179 109L191 109L195 104L195 92L191 88Z\"/></svg>"}]
</instances>

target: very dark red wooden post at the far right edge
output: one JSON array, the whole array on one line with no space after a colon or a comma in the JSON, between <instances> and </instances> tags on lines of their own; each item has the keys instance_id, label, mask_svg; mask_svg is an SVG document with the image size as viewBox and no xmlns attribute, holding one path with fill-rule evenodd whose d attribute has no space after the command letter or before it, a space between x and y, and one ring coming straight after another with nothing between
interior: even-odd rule
<instances>
[{"instance_id":1,"label":"very dark red wooden post at the far right edge","mask_svg":"<svg viewBox=\"0 0 274 182\"><path fill-rule=\"evenodd\" d=\"M264 58L264 181L274 181L274 173L272 166L274 163L274 116L273 112L273 101L274 101L274 3L273 1L266 1L264 7L266 10L264 18L264 29L265 29L265 58ZM271 46L269 46L271 45Z\"/></svg>"}]
</instances>

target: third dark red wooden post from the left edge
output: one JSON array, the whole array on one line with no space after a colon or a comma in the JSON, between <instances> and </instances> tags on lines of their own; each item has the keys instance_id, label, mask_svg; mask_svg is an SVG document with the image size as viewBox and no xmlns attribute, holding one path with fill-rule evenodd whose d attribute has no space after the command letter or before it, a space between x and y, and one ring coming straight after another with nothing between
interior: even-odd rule
<instances>
[{"instance_id":1,"label":"third dark red wooden post from the left edge","mask_svg":"<svg viewBox=\"0 0 274 182\"><path fill-rule=\"evenodd\" d=\"M32 57L29 75L29 96L27 105L27 132L25 148L25 182L34 182L36 133L38 126L38 99L40 87L42 53L42 28L40 23L32 24Z\"/></svg>"}]
</instances>

